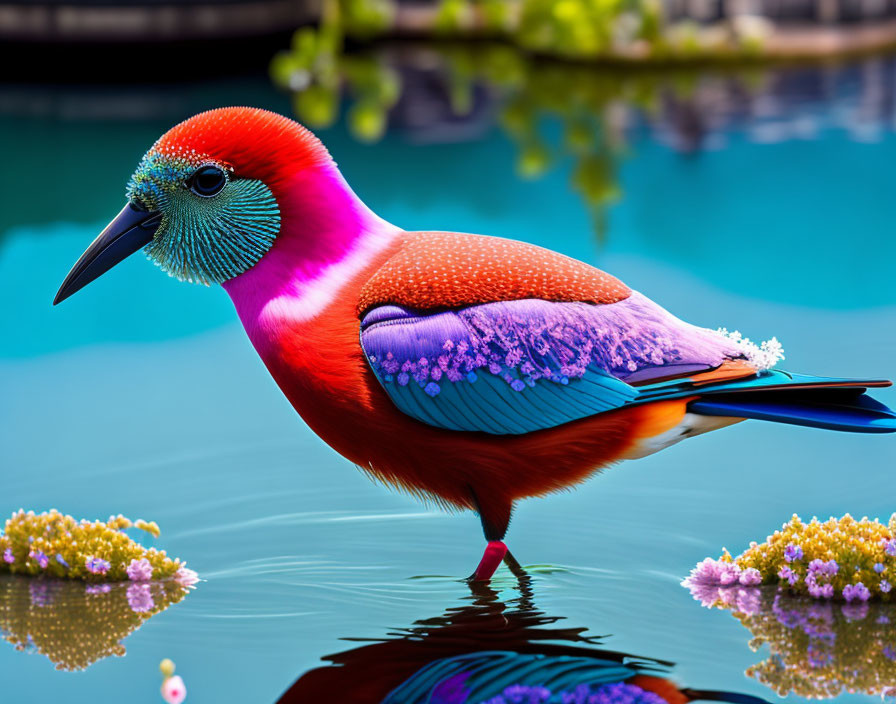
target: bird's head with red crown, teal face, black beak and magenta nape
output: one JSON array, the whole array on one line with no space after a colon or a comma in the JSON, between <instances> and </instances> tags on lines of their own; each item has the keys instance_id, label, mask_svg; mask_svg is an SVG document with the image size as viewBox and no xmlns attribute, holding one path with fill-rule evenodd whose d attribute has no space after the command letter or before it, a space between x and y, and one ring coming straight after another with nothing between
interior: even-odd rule
<instances>
[{"instance_id":1,"label":"bird's head with red crown, teal face, black beak and magenta nape","mask_svg":"<svg viewBox=\"0 0 896 704\"><path fill-rule=\"evenodd\" d=\"M209 110L172 127L143 157L127 195L57 303L141 247L170 275L203 284L235 279L275 240L290 252L286 268L314 271L340 258L362 220L374 217L317 137L248 107Z\"/></svg>"}]
</instances>

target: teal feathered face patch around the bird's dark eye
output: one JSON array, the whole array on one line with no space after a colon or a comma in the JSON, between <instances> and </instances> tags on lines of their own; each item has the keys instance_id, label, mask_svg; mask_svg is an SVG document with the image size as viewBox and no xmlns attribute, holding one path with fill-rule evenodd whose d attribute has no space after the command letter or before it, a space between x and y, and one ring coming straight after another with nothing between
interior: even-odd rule
<instances>
[{"instance_id":1,"label":"teal feathered face patch around the bird's dark eye","mask_svg":"<svg viewBox=\"0 0 896 704\"><path fill-rule=\"evenodd\" d=\"M280 232L270 189L195 155L148 153L128 199L162 214L146 255L170 276L210 285L254 266Z\"/></svg>"}]
</instances>

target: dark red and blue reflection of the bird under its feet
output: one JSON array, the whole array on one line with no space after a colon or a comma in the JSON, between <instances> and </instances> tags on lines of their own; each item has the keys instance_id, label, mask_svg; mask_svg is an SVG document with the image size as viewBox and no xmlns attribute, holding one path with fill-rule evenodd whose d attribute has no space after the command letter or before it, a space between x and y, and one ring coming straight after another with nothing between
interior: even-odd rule
<instances>
[{"instance_id":1,"label":"dark red and blue reflection of the bird under its feet","mask_svg":"<svg viewBox=\"0 0 896 704\"><path fill-rule=\"evenodd\" d=\"M600 647L586 628L538 610L528 577L506 602L484 584L471 591L468 604L323 658L329 664L302 675L280 704L762 702L681 688L668 679L672 663Z\"/></svg>"}]
</instances>

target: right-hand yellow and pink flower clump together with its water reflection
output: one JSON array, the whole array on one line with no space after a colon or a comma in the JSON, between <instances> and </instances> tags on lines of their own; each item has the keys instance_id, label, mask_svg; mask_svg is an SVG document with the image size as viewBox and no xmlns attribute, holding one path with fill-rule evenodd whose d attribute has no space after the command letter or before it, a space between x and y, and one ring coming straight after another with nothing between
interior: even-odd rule
<instances>
[{"instance_id":1,"label":"right-hand yellow and pink flower clump together with its water reflection","mask_svg":"<svg viewBox=\"0 0 896 704\"><path fill-rule=\"evenodd\" d=\"M682 584L704 606L731 611L753 650L768 646L748 676L781 696L827 699L896 695L894 581L896 514L887 524L847 514L793 516L736 558L703 560Z\"/></svg>"}]
</instances>

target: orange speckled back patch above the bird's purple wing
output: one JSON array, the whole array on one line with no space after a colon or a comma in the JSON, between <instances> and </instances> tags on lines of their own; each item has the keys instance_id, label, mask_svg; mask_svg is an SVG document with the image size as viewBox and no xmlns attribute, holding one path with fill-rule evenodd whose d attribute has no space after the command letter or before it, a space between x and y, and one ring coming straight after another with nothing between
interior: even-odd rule
<instances>
[{"instance_id":1,"label":"orange speckled back patch above the bird's purple wing","mask_svg":"<svg viewBox=\"0 0 896 704\"><path fill-rule=\"evenodd\" d=\"M386 303L426 310L523 298L615 303L630 294L600 269L525 242L408 232L361 289L358 312Z\"/></svg>"}]
</instances>

